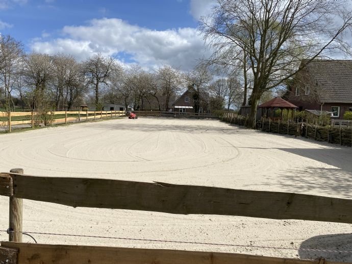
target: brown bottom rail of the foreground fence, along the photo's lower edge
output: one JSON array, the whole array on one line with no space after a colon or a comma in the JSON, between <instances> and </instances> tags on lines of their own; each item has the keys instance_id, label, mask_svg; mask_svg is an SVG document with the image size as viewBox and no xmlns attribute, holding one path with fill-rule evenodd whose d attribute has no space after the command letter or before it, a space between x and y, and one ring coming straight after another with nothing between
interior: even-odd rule
<instances>
[{"instance_id":1,"label":"brown bottom rail of the foreground fence, along the photo's lower edge","mask_svg":"<svg viewBox=\"0 0 352 264\"><path fill-rule=\"evenodd\" d=\"M2 242L4 264L342 264L342 262L246 254ZM5 257L3 258L5 259ZM348 263L344 263L348 264Z\"/></svg>"}]
</instances>

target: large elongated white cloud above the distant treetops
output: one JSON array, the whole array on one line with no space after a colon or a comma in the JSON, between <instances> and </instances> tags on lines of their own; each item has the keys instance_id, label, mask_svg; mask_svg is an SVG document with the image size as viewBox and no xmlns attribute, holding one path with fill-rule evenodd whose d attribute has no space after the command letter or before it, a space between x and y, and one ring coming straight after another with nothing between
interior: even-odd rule
<instances>
[{"instance_id":1,"label":"large elongated white cloud above the distant treetops","mask_svg":"<svg viewBox=\"0 0 352 264\"><path fill-rule=\"evenodd\" d=\"M70 53L84 60L101 52L124 53L142 66L161 64L189 69L205 54L203 39L193 28L156 31L116 18L93 19L88 26L66 26L64 37L51 41L34 40L36 52Z\"/></svg>"}]
</instances>

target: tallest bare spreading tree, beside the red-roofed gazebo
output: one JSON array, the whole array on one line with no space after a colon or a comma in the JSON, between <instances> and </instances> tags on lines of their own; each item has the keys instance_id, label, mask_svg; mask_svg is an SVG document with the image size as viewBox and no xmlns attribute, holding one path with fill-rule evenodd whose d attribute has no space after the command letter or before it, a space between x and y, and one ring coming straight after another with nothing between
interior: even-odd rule
<instances>
[{"instance_id":1,"label":"tallest bare spreading tree, beside the red-roofed gazebo","mask_svg":"<svg viewBox=\"0 0 352 264\"><path fill-rule=\"evenodd\" d=\"M244 70L250 68L249 127L255 127L257 106L265 91L317 57L349 51L342 34L352 25L351 13L346 1L218 0L212 12L201 18L199 30L214 51L210 61L229 65L242 61ZM299 67L303 59L306 64Z\"/></svg>"}]
</instances>

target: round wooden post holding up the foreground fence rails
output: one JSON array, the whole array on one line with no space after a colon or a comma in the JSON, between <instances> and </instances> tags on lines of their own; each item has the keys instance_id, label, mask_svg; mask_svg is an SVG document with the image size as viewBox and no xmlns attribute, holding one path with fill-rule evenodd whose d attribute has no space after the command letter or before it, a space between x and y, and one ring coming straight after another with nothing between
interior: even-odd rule
<instances>
[{"instance_id":1,"label":"round wooden post holding up the foreground fence rails","mask_svg":"<svg viewBox=\"0 0 352 264\"><path fill-rule=\"evenodd\" d=\"M23 174L23 169L12 169L12 173ZM10 197L10 214L9 214L9 241L22 242L22 214L23 199Z\"/></svg>"}]
</instances>

